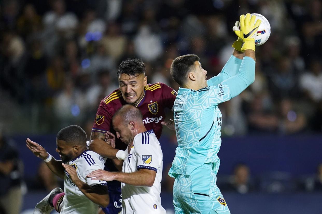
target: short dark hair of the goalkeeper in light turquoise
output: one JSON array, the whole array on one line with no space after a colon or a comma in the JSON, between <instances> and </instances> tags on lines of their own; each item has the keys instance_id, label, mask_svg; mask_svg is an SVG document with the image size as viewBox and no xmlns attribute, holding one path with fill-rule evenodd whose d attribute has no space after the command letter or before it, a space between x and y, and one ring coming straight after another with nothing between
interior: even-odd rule
<instances>
[{"instance_id":1,"label":"short dark hair of the goalkeeper in light turquoise","mask_svg":"<svg viewBox=\"0 0 322 214\"><path fill-rule=\"evenodd\" d=\"M194 67L195 61L199 61L199 57L195 54L187 54L175 58L170 68L172 79L182 86L187 80L189 71Z\"/></svg>"}]
</instances>

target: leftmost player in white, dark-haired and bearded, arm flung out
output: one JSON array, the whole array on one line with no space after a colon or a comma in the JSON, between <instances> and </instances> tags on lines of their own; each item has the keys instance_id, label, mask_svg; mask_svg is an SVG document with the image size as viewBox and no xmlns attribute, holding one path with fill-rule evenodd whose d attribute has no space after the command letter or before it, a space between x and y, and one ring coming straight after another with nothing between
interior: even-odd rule
<instances>
[{"instance_id":1,"label":"leftmost player in white, dark-haired and bearded, arm flung out","mask_svg":"<svg viewBox=\"0 0 322 214\"><path fill-rule=\"evenodd\" d=\"M103 158L88 150L86 141L86 133L81 127L70 125L63 128L56 138L56 152L61 160L56 160L41 145L29 138L26 140L28 149L64 179L64 193L61 188L53 189L36 205L35 214L49 214L53 209L61 214L97 213L97 204L103 207L109 204L107 183L86 177L88 173L104 168Z\"/></svg>"}]
</instances>

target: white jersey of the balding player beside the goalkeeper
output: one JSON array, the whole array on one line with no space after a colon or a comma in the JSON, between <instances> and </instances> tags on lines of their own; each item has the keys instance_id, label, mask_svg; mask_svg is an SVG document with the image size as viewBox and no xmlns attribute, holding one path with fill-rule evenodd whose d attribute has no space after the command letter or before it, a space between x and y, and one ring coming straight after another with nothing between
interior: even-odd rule
<instances>
[{"instance_id":1,"label":"white jersey of the balding player beside the goalkeeper","mask_svg":"<svg viewBox=\"0 0 322 214\"><path fill-rule=\"evenodd\" d=\"M139 169L156 171L153 186L122 185L122 214L166 213L161 206L162 150L153 130L134 137L128 158L123 162L122 172L132 173Z\"/></svg>"}]
</instances>

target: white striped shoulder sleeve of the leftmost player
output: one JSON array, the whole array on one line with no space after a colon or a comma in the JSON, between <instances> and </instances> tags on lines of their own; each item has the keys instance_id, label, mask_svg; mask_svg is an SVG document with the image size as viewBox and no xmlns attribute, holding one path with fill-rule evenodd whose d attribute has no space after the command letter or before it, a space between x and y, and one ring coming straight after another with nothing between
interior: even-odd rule
<instances>
[{"instance_id":1,"label":"white striped shoulder sleeve of the leftmost player","mask_svg":"<svg viewBox=\"0 0 322 214\"><path fill-rule=\"evenodd\" d=\"M80 172L81 176L86 180L86 184L94 187L107 185L106 181L102 181L102 180L95 181L86 177L88 174L90 174L95 170L104 169L104 160L99 154L93 151L87 151L86 153L87 155L82 157L83 167L82 167L82 171Z\"/></svg>"}]
</instances>

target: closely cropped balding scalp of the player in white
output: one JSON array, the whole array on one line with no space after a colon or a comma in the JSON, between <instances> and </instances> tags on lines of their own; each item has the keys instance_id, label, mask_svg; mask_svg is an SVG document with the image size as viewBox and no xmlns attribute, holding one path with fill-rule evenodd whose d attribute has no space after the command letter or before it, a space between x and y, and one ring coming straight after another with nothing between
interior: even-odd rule
<instances>
[{"instance_id":1,"label":"closely cropped balding scalp of the player in white","mask_svg":"<svg viewBox=\"0 0 322 214\"><path fill-rule=\"evenodd\" d=\"M141 111L133 105L124 105L113 116L113 124L116 121L128 124L130 121L143 123Z\"/></svg>"}]
</instances>

